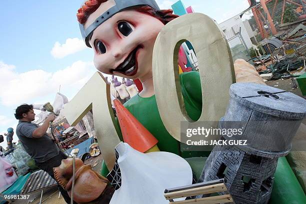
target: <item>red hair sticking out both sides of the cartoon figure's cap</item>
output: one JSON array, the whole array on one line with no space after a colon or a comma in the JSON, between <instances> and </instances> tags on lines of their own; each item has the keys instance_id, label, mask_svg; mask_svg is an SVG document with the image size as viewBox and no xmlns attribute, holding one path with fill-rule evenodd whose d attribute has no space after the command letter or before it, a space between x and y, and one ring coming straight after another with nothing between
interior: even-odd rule
<instances>
[{"instance_id":1,"label":"red hair sticking out both sides of the cartoon figure's cap","mask_svg":"<svg viewBox=\"0 0 306 204\"><path fill-rule=\"evenodd\" d=\"M100 6L101 3L105 1L107 0L87 0L85 4L77 10L76 16L78 22L84 24L88 19L88 16L93 13ZM163 24L166 24L174 18L178 17L178 15L172 13L173 10L171 9L155 10L154 8L148 5L136 7L134 8L134 10L151 15L160 20Z\"/></svg>"}]
</instances>

